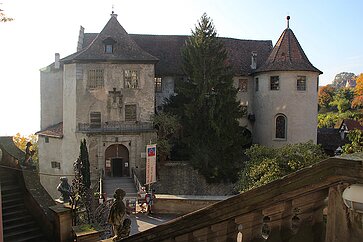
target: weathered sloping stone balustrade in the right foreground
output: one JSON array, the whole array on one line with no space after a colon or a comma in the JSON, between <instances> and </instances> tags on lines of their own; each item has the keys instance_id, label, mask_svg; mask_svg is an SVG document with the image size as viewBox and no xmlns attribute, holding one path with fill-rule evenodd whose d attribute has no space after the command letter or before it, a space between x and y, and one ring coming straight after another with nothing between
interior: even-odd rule
<instances>
[{"instance_id":1,"label":"weathered sloping stone balustrade in the right foreground","mask_svg":"<svg viewBox=\"0 0 363 242\"><path fill-rule=\"evenodd\" d=\"M342 191L363 183L361 160L330 158L123 241L363 241Z\"/></svg>"}]
</instances>

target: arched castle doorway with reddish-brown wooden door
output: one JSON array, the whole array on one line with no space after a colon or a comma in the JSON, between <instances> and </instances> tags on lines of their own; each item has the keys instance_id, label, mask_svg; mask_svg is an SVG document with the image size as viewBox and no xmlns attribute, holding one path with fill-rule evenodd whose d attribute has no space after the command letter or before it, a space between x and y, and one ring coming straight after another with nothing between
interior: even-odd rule
<instances>
[{"instance_id":1,"label":"arched castle doorway with reddish-brown wooden door","mask_svg":"<svg viewBox=\"0 0 363 242\"><path fill-rule=\"evenodd\" d=\"M105 173L108 177L129 177L129 151L126 146L114 144L105 151Z\"/></svg>"}]
</instances>

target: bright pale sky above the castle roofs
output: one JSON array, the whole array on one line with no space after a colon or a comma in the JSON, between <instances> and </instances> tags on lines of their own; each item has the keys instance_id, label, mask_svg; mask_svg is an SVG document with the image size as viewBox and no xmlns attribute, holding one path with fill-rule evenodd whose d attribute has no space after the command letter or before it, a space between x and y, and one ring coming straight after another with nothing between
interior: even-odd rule
<instances>
[{"instance_id":1,"label":"bright pale sky above the castle roofs","mask_svg":"<svg viewBox=\"0 0 363 242\"><path fill-rule=\"evenodd\" d=\"M100 32L112 10L130 34L190 35L207 13L220 37L273 44L290 15L320 85L363 72L361 0L0 0L0 9L14 18L0 23L0 136L39 131L39 70L76 51L81 25Z\"/></svg>"}]
</instances>

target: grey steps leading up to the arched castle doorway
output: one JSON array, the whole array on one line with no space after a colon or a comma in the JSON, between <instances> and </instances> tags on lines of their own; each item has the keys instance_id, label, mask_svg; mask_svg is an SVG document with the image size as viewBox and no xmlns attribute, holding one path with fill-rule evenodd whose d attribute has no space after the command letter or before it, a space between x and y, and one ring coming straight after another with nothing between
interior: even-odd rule
<instances>
[{"instance_id":1,"label":"grey steps leading up to the arched castle doorway","mask_svg":"<svg viewBox=\"0 0 363 242\"><path fill-rule=\"evenodd\" d=\"M125 199L137 197L137 190L132 178L112 177L103 180L103 192L106 193L107 198L113 198L113 194L117 188L121 188L126 192Z\"/></svg>"}]
</instances>

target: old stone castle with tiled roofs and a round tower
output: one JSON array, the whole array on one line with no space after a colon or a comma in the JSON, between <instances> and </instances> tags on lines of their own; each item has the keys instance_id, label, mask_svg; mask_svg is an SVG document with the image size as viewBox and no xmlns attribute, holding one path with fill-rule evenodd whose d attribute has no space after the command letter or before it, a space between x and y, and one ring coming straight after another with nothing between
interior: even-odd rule
<instances>
[{"instance_id":1,"label":"old stone castle with tiled roofs and a round tower","mask_svg":"<svg viewBox=\"0 0 363 242\"><path fill-rule=\"evenodd\" d=\"M145 147L156 142L152 116L186 78L181 48L188 36L128 34L111 14L100 33L81 27L77 51L41 70L39 169L57 196L57 175L73 173L86 138L91 179L145 177ZM234 72L240 124L267 146L317 139L317 88L322 72L287 26L271 41L220 38Z\"/></svg>"}]
</instances>

